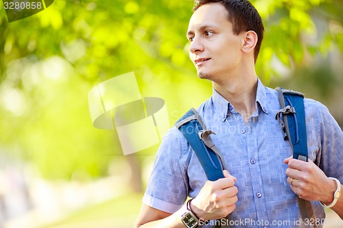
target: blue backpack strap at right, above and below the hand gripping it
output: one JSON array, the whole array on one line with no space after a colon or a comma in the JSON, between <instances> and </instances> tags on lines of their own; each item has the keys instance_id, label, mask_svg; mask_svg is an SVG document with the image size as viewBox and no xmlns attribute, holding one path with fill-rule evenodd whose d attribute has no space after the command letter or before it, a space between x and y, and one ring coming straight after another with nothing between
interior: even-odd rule
<instances>
[{"instance_id":1,"label":"blue backpack strap at right, above and below the hand gripping it","mask_svg":"<svg viewBox=\"0 0 343 228\"><path fill-rule=\"evenodd\" d=\"M307 162L307 134L305 121L304 94L283 88L275 89L279 93L279 103L281 110L276 114L276 119L281 123L283 132L286 134L285 140L289 139L293 149L293 158ZM280 118L283 114L283 120ZM305 218L314 219L314 210L309 201L298 197L300 215ZM317 228L316 223L314 227Z\"/></svg>"}]
</instances>

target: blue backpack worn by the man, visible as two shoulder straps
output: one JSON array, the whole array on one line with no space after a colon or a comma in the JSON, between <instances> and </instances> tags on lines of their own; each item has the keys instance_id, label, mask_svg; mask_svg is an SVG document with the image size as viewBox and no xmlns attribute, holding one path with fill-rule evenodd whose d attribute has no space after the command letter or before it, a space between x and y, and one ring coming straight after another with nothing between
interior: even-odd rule
<instances>
[{"instance_id":1,"label":"blue backpack worn by the man, visible as two shoulder straps","mask_svg":"<svg viewBox=\"0 0 343 228\"><path fill-rule=\"evenodd\" d=\"M279 87L275 90L279 93L281 106L281 110L277 112L275 118L281 123L284 140L289 140L291 143L295 159L307 162L304 94ZM207 179L216 181L224 178L225 161L210 137L211 134L215 133L210 129L206 129L198 112L192 107L175 125L196 153ZM316 221L314 210L309 201L298 197L298 205L303 220L314 219ZM220 227L220 225L216 227ZM317 226L314 225L314 227Z\"/></svg>"}]
</instances>

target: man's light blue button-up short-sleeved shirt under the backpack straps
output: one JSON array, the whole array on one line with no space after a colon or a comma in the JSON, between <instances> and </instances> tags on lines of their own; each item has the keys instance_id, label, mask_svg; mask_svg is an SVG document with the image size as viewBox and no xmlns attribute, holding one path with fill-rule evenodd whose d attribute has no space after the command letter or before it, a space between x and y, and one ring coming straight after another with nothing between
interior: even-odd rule
<instances>
[{"instance_id":1,"label":"man's light blue button-up short-sleeved shirt under the backpack straps","mask_svg":"<svg viewBox=\"0 0 343 228\"><path fill-rule=\"evenodd\" d=\"M343 183L343 133L327 107L305 99L309 159L328 177ZM283 140L275 114L280 110L278 94L257 85L256 112L247 125L220 94L198 107L211 138L224 156L231 175L237 178L236 209L230 214L231 227L308 227L300 224L297 196L287 183L283 160L293 154ZM206 181L200 162L181 132L172 127L161 142L143 203L174 213L187 197L198 195ZM318 220L325 218L318 202L311 202ZM322 220L323 221L323 220ZM204 227L214 227L207 225ZM319 227L322 227L321 225Z\"/></svg>"}]
</instances>

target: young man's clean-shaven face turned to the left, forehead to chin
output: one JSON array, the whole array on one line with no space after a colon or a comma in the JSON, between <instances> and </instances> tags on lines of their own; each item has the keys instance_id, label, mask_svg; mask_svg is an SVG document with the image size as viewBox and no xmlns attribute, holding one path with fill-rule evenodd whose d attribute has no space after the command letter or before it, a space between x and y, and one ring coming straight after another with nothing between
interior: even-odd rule
<instances>
[{"instance_id":1,"label":"young man's clean-shaven face turned to the left, forehead to chin","mask_svg":"<svg viewBox=\"0 0 343 228\"><path fill-rule=\"evenodd\" d=\"M200 78L216 81L239 71L244 33L233 34L227 16L219 3L202 5L191 16L187 31L189 57Z\"/></svg>"}]
</instances>

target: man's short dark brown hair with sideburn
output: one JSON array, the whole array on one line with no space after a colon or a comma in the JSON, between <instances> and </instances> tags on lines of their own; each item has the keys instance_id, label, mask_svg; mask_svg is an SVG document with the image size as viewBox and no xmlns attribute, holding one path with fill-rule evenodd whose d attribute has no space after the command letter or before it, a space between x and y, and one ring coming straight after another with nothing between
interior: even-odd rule
<instances>
[{"instance_id":1,"label":"man's short dark brown hair with sideburn","mask_svg":"<svg viewBox=\"0 0 343 228\"><path fill-rule=\"evenodd\" d=\"M195 0L196 6L193 8L193 11L195 12L200 6L209 3L220 3L224 5L228 12L228 21L233 24L233 32L235 34L238 35L242 31L250 30L256 32L258 37L254 52L256 62L257 56L259 56L259 50L261 49L264 27L262 18L254 5L247 0Z\"/></svg>"}]
</instances>

